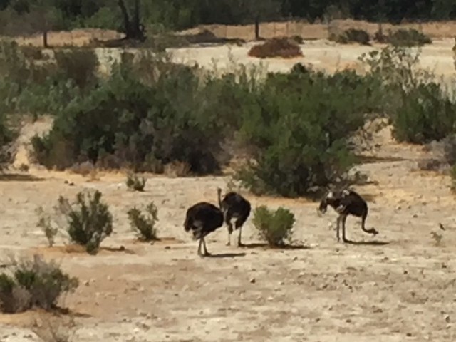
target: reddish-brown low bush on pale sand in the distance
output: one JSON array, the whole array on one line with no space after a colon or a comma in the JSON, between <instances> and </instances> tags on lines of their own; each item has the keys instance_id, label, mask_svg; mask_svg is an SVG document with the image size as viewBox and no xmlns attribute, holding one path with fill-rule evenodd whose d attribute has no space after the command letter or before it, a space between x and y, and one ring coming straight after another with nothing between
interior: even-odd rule
<instances>
[{"instance_id":1,"label":"reddish-brown low bush on pale sand in the distance","mask_svg":"<svg viewBox=\"0 0 456 342\"><path fill-rule=\"evenodd\" d=\"M299 45L289 38L272 38L253 46L248 54L257 58L294 58L302 56L302 51Z\"/></svg>"}]
</instances>

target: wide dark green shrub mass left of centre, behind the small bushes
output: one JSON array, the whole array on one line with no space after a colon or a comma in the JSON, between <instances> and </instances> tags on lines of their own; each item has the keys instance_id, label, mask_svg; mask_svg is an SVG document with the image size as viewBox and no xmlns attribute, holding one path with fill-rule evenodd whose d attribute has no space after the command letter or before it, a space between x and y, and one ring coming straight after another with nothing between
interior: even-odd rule
<instances>
[{"instance_id":1,"label":"wide dark green shrub mass left of centre, behind the small bushes","mask_svg":"<svg viewBox=\"0 0 456 342\"><path fill-rule=\"evenodd\" d=\"M144 66L138 65L142 79L138 69L119 66L99 88L70 103L48 135L33 139L38 162L62 169L88 160L154 171L157 164L180 161L195 174L217 172L223 123L205 104L195 72L154 61Z\"/></svg>"}]
</instances>

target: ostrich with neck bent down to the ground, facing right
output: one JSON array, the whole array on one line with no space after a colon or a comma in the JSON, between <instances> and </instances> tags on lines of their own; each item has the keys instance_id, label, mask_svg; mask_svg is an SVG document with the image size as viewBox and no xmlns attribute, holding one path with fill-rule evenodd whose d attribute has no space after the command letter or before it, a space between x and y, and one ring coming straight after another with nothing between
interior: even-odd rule
<instances>
[{"instance_id":1,"label":"ostrich with neck bent down to the ground, facing right","mask_svg":"<svg viewBox=\"0 0 456 342\"><path fill-rule=\"evenodd\" d=\"M363 232L373 234L374 236L378 234L376 229L366 229L365 227L366 217L368 216L368 204L358 193L352 190L330 191L321 200L318 210L324 214L328 205L333 207L339 214L337 217L337 241L340 240L339 227L342 221L342 240L343 242L348 242L345 235L345 222L348 215L361 217L361 229L363 229Z\"/></svg>"}]
</instances>

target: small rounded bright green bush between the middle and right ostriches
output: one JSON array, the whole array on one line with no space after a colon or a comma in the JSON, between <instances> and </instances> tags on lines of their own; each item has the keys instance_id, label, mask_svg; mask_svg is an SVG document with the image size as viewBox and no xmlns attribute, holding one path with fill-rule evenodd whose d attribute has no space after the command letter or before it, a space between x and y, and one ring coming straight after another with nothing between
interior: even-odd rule
<instances>
[{"instance_id":1,"label":"small rounded bright green bush between the middle and right ostriches","mask_svg":"<svg viewBox=\"0 0 456 342\"><path fill-rule=\"evenodd\" d=\"M294 214L283 207L271 210L262 205L254 210L254 227L271 247L284 247L293 236Z\"/></svg>"}]
</instances>

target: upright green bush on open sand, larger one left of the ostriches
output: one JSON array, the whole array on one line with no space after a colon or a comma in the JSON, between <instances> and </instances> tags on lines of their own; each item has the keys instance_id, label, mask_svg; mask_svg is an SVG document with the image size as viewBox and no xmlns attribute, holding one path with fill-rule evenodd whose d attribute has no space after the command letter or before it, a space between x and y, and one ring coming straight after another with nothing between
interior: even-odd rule
<instances>
[{"instance_id":1,"label":"upright green bush on open sand, larger one left of the ostriches","mask_svg":"<svg viewBox=\"0 0 456 342\"><path fill-rule=\"evenodd\" d=\"M73 204L65 197L58 198L71 242L86 247L89 254L96 254L103 239L113 232L113 215L101 197L101 192L95 190L93 193L78 192Z\"/></svg>"}]
</instances>

